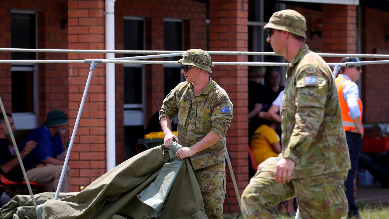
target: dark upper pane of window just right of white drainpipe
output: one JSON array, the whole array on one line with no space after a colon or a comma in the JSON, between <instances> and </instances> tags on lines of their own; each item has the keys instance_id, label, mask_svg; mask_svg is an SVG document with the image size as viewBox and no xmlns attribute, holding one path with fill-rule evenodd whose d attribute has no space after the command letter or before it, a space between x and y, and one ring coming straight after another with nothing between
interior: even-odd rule
<instances>
[{"instance_id":1,"label":"dark upper pane of window just right of white drainpipe","mask_svg":"<svg viewBox=\"0 0 389 219\"><path fill-rule=\"evenodd\" d=\"M123 47L124 50L144 50L144 21L123 20ZM139 54L125 54L125 57L138 56Z\"/></svg>"}]
</instances>

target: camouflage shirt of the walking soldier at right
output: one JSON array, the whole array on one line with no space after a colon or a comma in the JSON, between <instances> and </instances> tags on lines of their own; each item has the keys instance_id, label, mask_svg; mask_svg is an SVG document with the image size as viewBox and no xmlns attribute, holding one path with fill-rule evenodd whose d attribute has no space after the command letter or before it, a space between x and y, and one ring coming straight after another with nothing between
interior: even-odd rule
<instances>
[{"instance_id":1,"label":"camouflage shirt of the walking soldier at right","mask_svg":"<svg viewBox=\"0 0 389 219\"><path fill-rule=\"evenodd\" d=\"M286 70L280 156L296 164L292 178L351 167L334 81L329 66L307 44Z\"/></svg>"}]
</instances>

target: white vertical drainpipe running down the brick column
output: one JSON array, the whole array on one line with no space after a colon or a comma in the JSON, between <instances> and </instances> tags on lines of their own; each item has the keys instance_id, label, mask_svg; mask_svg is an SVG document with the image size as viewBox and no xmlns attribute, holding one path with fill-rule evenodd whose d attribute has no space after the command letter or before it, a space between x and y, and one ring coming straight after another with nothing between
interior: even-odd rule
<instances>
[{"instance_id":1,"label":"white vertical drainpipe running down the brick column","mask_svg":"<svg viewBox=\"0 0 389 219\"><path fill-rule=\"evenodd\" d=\"M105 0L105 49L115 49L115 1ZM105 53L105 58L115 58ZM107 171L116 166L115 64L105 64L105 132Z\"/></svg>"}]
</instances>

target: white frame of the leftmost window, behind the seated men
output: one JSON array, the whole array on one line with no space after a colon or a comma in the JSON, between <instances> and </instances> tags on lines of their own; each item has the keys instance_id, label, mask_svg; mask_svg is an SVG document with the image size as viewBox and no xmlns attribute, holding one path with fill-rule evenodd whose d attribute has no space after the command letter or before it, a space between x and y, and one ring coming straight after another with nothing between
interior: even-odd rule
<instances>
[{"instance_id":1,"label":"white frame of the leftmost window, behind the seated men","mask_svg":"<svg viewBox=\"0 0 389 219\"><path fill-rule=\"evenodd\" d=\"M38 18L37 12L32 10L11 9L11 13L18 14L35 14L35 47L38 45ZM11 24L12 25L12 24ZM38 53L35 53L38 57ZM15 126L18 130L35 129L39 126L39 83L38 83L38 65L37 64L12 64L12 71L32 71L33 72L33 97L34 97L34 112L12 113ZM14 81L12 81L14 83ZM12 101L17 101L12 99Z\"/></svg>"}]
</instances>

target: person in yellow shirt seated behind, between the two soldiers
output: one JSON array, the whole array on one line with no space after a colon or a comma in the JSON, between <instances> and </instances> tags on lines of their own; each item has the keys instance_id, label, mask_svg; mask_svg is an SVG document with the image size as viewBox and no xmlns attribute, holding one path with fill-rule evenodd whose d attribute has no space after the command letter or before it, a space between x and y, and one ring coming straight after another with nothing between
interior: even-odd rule
<instances>
[{"instance_id":1,"label":"person in yellow shirt seated behind, between the two soldiers","mask_svg":"<svg viewBox=\"0 0 389 219\"><path fill-rule=\"evenodd\" d=\"M252 135L250 143L257 164L269 157L277 157L281 153L280 139L275 133L275 122L262 120L261 124Z\"/></svg>"}]
</instances>

